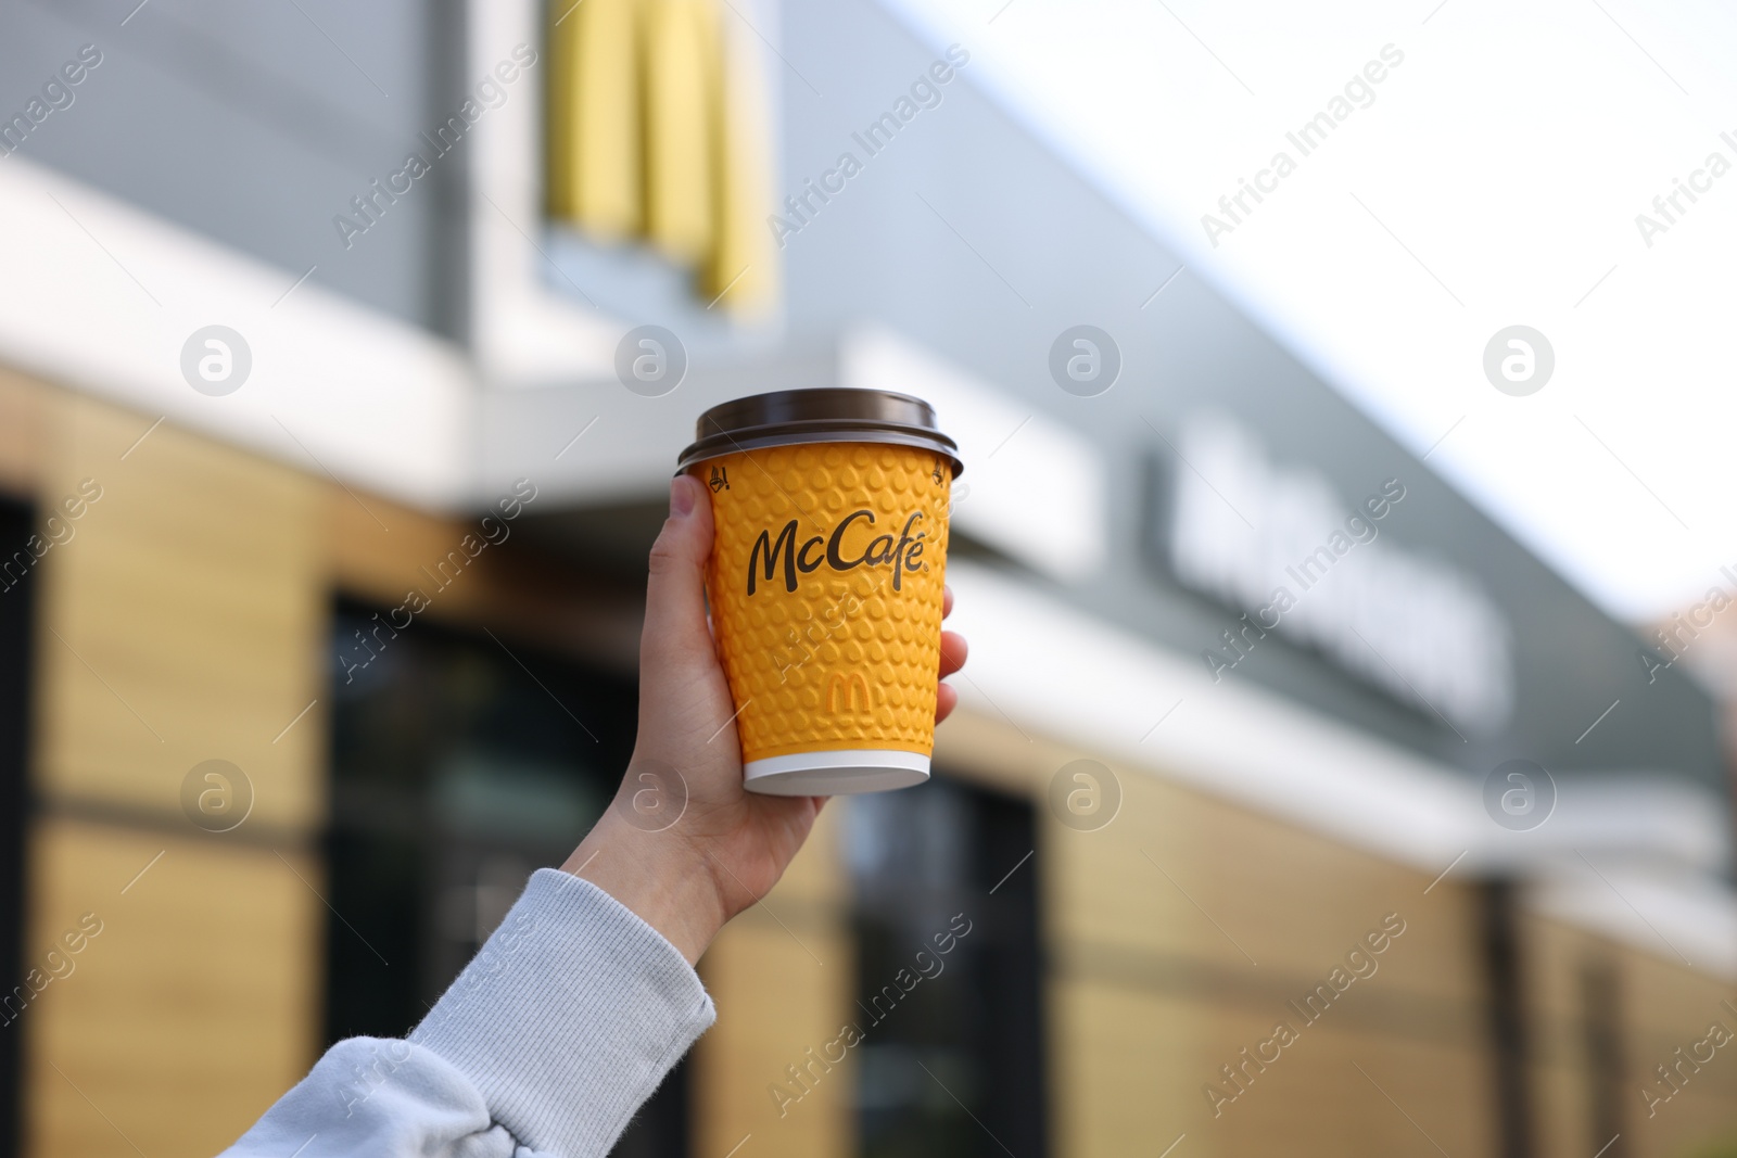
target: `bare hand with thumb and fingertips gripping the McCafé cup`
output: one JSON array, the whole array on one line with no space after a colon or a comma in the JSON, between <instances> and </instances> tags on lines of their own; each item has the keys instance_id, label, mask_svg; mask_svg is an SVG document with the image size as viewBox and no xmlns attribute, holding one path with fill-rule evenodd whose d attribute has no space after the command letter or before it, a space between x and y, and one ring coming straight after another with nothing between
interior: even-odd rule
<instances>
[{"instance_id":1,"label":"bare hand with thumb and fingertips gripping the McCaf\u00e9 cup","mask_svg":"<svg viewBox=\"0 0 1737 1158\"><path fill-rule=\"evenodd\" d=\"M825 797L769 797L742 786L735 703L705 623L712 507L677 476L651 547L639 641L639 740L615 802L561 866L591 880L681 950L700 958L726 920L778 884ZM943 615L952 611L947 592ZM966 641L941 632L941 675ZM935 719L959 701L947 684Z\"/></svg>"}]
</instances>

